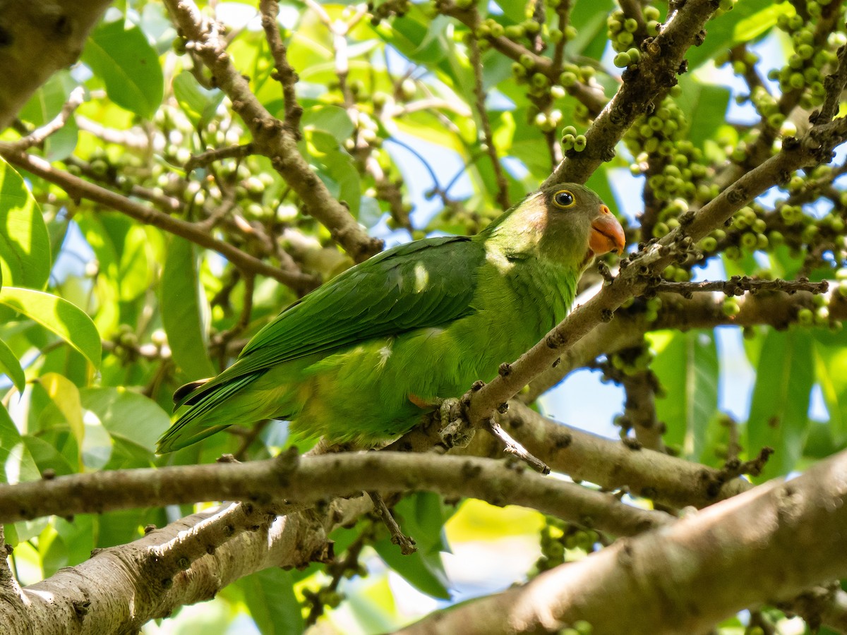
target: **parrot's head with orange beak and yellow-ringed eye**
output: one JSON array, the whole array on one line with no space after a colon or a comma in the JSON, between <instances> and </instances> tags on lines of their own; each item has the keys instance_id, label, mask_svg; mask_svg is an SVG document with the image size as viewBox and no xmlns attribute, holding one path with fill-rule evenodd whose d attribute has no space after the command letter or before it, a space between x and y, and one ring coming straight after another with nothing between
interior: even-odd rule
<instances>
[{"instance_id":1,"label":"parrot's head with orange beak and yellow-ringed eye","mask_svg":"<svg viewBox=\"0 0 847 635\"><path fill-rule=\"evenodd\" d=\"M595 256L626 246L623 227L594 191L576 183L530 194L485 230L507 253L533 255L582 270Z\"/></svg>"}]
</instances>

